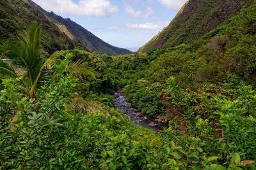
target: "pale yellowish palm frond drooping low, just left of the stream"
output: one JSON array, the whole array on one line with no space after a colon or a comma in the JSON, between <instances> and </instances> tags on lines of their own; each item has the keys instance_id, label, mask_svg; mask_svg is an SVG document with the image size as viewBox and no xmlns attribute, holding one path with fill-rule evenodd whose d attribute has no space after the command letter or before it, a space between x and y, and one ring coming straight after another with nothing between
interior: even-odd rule
<instances>
[{"instance_id":1,"label":"pale yellowish palm frond drooping low, just left of the stream","mask_svg":"<svg viewBox=\"0 0 256 170\"><path fill-rule=\"evenodd\" d=\"M68 111L81 112L84 115L87 113L100 112L108 115L108 111L101 103L97 101L91 101L82 97L75 97L71 104L65 104L65 108Z\"/></svg>"}]
</instances>

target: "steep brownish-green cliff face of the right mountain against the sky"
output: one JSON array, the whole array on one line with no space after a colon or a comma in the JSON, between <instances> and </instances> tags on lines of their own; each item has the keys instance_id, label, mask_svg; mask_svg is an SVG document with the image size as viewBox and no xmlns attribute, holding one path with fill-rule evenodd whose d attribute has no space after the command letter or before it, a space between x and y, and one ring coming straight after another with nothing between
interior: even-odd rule
<instances>
[{"instance_id":1,"label":"steep brownish-green cliff face of the right mountain against the sky","mask_svg":"<svg viewBox=\"0 0 256 170\"><path fill-rule=\"evenodd\" d=\"M139 52L191 43L235 13L246 0L189 0L172 22Z\"/></svg>"}]
</instances>

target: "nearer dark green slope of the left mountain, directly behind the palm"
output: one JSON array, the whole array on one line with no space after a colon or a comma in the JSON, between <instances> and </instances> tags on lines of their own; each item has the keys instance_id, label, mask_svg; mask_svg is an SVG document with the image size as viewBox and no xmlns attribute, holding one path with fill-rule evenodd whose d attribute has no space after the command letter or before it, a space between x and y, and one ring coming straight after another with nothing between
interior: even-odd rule
<instances>
[{"instance_id":1,"label":"nearer dark green slope of the left mountain, directly behind the palm","mask_svg":"<svg viewBox=\"0 0 256 170\"><path fill-rule=\"evenodd\" d=\"M78 41L72 41L62 34L58 27L45 17L42 11L32 8L25 1L0 1L0 40L17 37L34 21L42 24L42 45L52 53L56 50L68 50L78 46Z\"/></svg>"}]
</instances>

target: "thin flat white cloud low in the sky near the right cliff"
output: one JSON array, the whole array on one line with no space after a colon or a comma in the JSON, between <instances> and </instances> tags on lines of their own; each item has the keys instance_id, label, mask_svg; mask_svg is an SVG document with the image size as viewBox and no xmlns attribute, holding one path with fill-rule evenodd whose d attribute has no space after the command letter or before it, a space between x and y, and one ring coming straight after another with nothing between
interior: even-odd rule
<instances>
[{"instance_id":1,"label":"thin flat white cloud low in the sky near the right cliff","mask_svg":"<svg viewBox=\"0 0 256 170\"><path fill-rule=\"evenodd\" d=\"M168 25L168 22L147 22L143 24L126 24L126 27L129 29L155 29L160 31L166 25Z\"/></svg>"}]
</instances>

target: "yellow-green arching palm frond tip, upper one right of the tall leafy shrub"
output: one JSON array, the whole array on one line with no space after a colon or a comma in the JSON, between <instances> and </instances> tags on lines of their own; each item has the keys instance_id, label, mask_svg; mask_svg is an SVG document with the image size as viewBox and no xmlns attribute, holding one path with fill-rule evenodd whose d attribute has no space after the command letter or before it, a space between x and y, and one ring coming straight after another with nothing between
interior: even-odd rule
<instances>
[{"instance_id":1,"label":"yellow-green arching palm frond tip, upper one right of the tall leafy shrub","mask_svg":"<svg viewBox=\"0 0 256 170\"><path fill-rule=\"evenodd\" d=\"M88 62L83 62L83 60L77 60L77 62L72 62L69 64L70 73L79 76L79 78L83 78L83 76L92 76L96 78L97 73L94 71Z\"/></svg>"}]
</instances>

